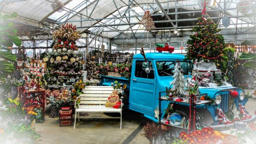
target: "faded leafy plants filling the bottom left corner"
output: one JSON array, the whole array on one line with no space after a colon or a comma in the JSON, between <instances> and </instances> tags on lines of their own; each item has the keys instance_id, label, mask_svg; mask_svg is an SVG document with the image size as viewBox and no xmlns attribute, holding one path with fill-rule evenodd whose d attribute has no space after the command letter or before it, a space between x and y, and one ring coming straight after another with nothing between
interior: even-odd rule
<instances>
[{"instance_id":1,"label":"faded leafy plants filling the bottom left corner","mask_svg":"<svg viewBox=\"0 0 256 144\"><path fill-rule=\"evenodd\" d=\"M41 136L31 128L34 115L24 109L18 99L9 99L0 107L0 130L3 130L0 141L3 144L33 144Z\"/></svg>"}]
</instances>

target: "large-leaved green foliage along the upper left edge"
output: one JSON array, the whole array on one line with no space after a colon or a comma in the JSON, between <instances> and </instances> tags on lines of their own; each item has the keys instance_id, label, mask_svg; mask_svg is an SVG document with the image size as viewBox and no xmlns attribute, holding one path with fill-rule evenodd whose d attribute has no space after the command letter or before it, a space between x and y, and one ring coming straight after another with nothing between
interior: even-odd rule
<instances>
[{"instance_id":1,"label":"large-leaved green foliage along the upper left edge","mask_svg":"<svg viewBox=\"0 0 256 144\"><path fill-rule=\"evenodd\" d=\"M17 17L17 13L14 12L10 15L0 13L0 58L5 59L0 60L0 80L2 81L15 70L13 63L16 60L16 56L6 47L12 47L13 44L16 46L21 45L21 40L16 35L17 30L11 28L13 26L12 22L7 21L12 17Z\"/></svg>"}]
</instances>

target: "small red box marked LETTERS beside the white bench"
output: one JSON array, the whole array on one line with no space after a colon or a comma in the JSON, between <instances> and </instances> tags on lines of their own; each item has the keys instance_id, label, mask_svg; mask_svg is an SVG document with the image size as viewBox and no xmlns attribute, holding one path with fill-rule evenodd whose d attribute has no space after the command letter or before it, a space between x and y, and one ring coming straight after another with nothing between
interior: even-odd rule
<instances>
[{"instance_id":1,"label":"small red box marked LETTERS beside the white bench","mask_svg":"<svg viewBox=\"0 0 256 144\"><path fill-rule=\"evenodd\" d=\"M72 107L61 107L59 112L60 127L73 126Z\"/></svg>"}]
</instances>

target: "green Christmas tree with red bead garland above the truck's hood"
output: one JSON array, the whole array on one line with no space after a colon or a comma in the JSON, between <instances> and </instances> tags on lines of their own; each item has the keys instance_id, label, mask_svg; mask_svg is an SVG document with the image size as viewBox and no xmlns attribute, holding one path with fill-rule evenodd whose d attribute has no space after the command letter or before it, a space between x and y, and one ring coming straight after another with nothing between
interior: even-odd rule
<instances>
[{"instance_id":1,"label":"green Christmas tree with red bead garland above the truck's hood","mask_svg":"<svg viewBox=\"0 0 256 144\"><path fill-rule=\"evenodd\" d=\"M225 43L221 34L215 34L221 31L217 27L218 25L212 22L211 19L198 18L198 23L193 27L195 35L190 35L191 39L187 41L186 60L195 61L197 59L198 61L221 62Z\"/></svg>"}]
</instances>

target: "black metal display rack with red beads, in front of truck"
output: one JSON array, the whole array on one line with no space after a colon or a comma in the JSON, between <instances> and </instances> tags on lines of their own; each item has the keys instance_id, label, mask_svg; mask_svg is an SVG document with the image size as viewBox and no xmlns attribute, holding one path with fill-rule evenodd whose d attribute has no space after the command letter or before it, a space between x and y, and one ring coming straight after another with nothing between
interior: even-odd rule
<instances>
[{"instance_id":1,"label":"black metal display rack with red beads, in front of truck","mask_svg":"<svg viewBox=\"0 0 256 144\"><path fill-rule=\"evenodd\" d=\"M172 126L172 127L177 127L177 128L180 128L180 129L183 129L183 130L187 130L187 131L194 131L195 130L195 106L202 106L202 108L204 107L205 109L205 113L206 113L206 118L207 118L207 108L208 108L208 103L210 103L211 101L207 101L207 93L205 94L200 94L200 95L191 95L191 100L190 102L183 102L183 101L175 101L175 100L168 100L168 99L162 99L161 98L161 94L163 94L166 92L159 92L159 131L161 130L161 124L164 124L164 125L168 125L168 126ZM200 99L202 96L205 97L205 100L201 100L200 102L197 102L196 103L196 99ZM175 126L175 125L172 125L172 124L165 124L163 122L161 122L161 119L162 119L162 115L164 116L165 115L165 111L163 112L163 114L161 115L161 102L162 101L171 101L172 103L174 104L181 104L181 103L185 103L185 104L190 104L188 105L188 107L191 107L191 111L190 111L190 114L189 114L189 118L191 119L191 121L189 122L191 124L190 129L186 129L186 128L183 128L183 127L180 127L180 126ZM184 106L186 107L186 106ZM207 120L206 120L207 121Z\"/></svg>"}]
</instances>

